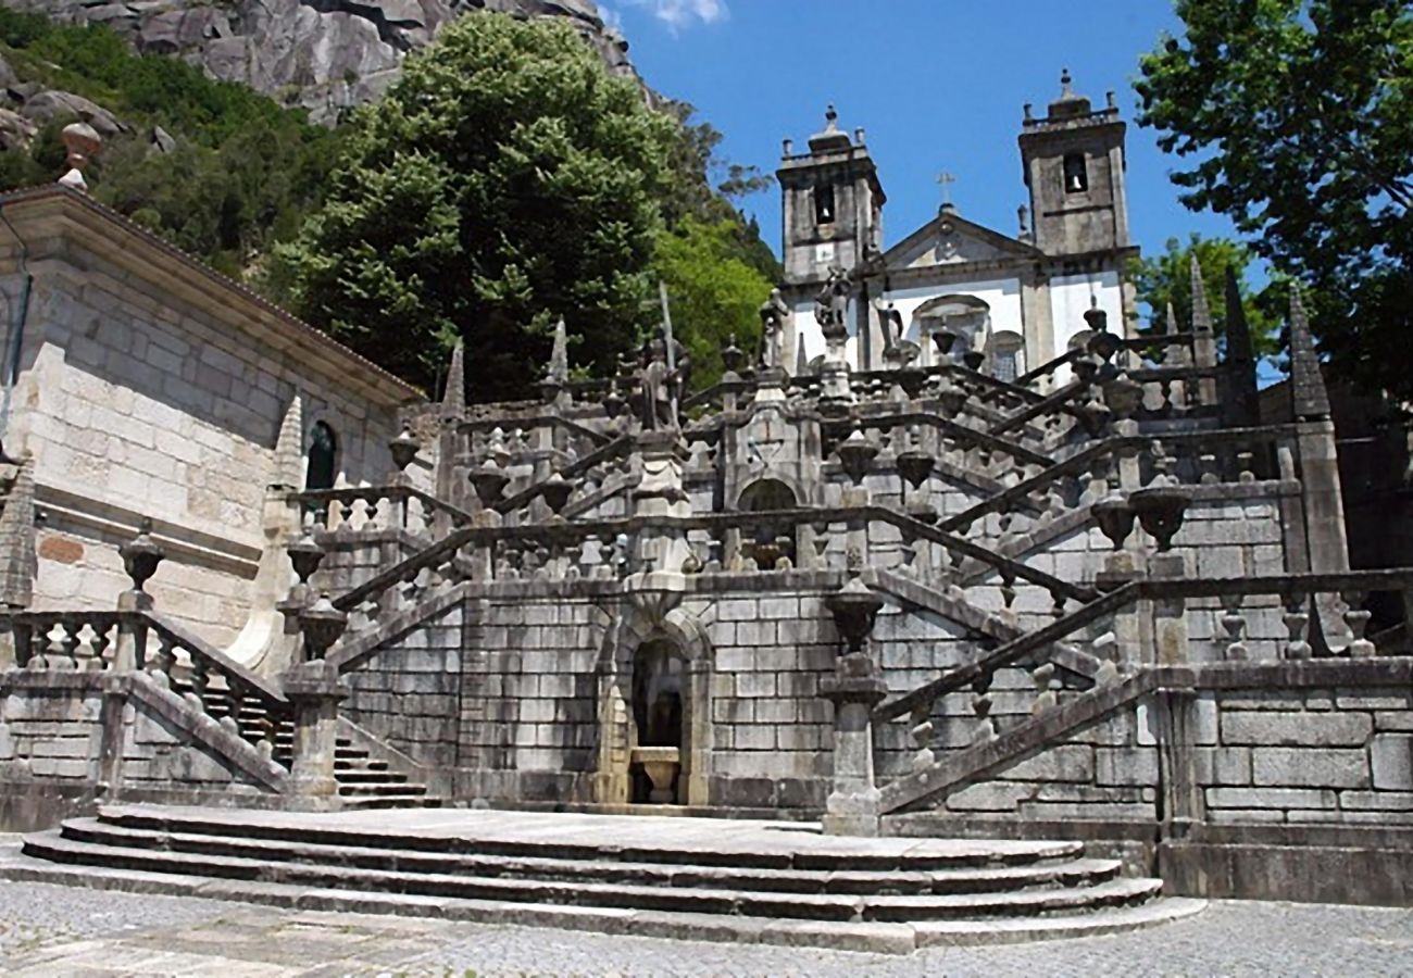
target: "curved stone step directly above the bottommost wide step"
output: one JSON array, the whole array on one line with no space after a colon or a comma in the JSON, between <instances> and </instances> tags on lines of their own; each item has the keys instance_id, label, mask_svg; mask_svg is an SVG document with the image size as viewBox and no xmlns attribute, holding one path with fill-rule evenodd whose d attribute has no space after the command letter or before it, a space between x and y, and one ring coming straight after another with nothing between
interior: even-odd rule
<instances>
[{"instance_id":1,"label":"curved stone step directly above the bottommost wide step","mask_svg":"<svg viewBox=\"0 0 1413 978\"><path fill-rule=\"evenodd\" d=\"M342 864L292 864L230 855L90 845L55 832L30 837L24 854L54 862L100 865L187 876L222 876L333 890L447 896L548 906L591 906L670 913L705 913L829 921L965 920L992 916L1041 916L1092 912L1140 903L1161 883L1119 879L1081 889L877 896L841 893L777 893L732 889L651 886L643 883L547 882L451 873L377 871Z\"/></svg>"}]
</instances>

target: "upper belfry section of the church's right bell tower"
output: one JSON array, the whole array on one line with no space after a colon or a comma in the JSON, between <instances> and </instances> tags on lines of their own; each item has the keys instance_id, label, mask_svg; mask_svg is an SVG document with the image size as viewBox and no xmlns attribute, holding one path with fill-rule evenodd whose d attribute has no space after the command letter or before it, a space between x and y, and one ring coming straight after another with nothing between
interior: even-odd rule
<instances>
[{"instance_id":1,"label":"upper belfry section of the church's right bell tower","mask_svg":"<svg viewBox=\"0 0 1413 978\"><path fill-rule=\"evenodd\" d=\"M1026 106L1020 133L1034 243L1053 256L1128 247L1126 127L1113 93L1095 110L1089 99L1075 95L1068 68L1060 85L1060 98L1044 119L1034 119Z\"/></svg>"}]
</instances>

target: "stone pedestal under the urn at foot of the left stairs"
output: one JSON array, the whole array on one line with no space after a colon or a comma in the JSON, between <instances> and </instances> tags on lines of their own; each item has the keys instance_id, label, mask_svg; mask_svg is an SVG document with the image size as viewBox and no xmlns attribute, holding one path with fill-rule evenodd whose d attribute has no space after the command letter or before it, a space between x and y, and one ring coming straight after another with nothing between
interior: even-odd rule
<instances>
[{"instance_id":1,"label":"stone pedestal under the urn at foot of the left stairs","mask_svg":"<svg viewBox=\"0 0 1413 978\"><path fill-rule=\"evenodd\" d=\"M291 801L305 811L338 808L339 786L333 777L338 707L349 690L338 671L322 659L291 667L281 680L284 694L294 707Z\"/></svg>"}]
</instances>

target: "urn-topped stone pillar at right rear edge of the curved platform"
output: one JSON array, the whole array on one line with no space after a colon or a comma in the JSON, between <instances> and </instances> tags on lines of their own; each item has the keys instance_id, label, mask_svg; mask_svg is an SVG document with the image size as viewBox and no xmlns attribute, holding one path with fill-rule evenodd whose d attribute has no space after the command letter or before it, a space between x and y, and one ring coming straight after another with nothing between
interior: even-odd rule
<instances>
[{"instance_id":1,"label":"urn-topped stone pillar at right rear edge of the curved platform","mask_svg":"<svg viewBox=\"0 0 1413 978\"><path fill-rule=\"evenodd\" d=\"M853 578L825 599L845 642L835 674L820 684L820 695L834 704L834 786L825 801L824 831L829 835L877 835L882 813L873 783L873 722L870 714L887 684L869 656L883 599Z\"/></svg>"}]
</instances>

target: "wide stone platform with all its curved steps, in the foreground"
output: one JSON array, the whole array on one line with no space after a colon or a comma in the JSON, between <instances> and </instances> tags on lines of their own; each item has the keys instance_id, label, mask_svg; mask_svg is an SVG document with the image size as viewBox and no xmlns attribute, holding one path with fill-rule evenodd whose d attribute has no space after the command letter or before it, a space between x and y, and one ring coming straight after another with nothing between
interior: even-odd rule
<instances>
[{"instance_id":1,"label":"wide stone platform with all its curved steps, in the foreground","mask_svg":"<svg viewBox=\"0 0 1413 978\"><path fill-rule=\"evenodd\" d=\"M1198 912L1078 842L842 838L807 823L112 806L0 876L612 934L911 953Z\"/></svg>"}]
</instances>

